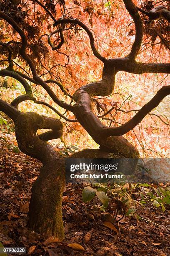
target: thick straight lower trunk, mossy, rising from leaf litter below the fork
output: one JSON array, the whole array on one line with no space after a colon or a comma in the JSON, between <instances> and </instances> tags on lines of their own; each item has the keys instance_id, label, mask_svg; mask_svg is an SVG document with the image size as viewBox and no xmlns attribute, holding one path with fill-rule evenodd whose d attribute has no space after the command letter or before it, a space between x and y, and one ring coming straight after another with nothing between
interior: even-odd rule
<instances>
[{"instance_id":1,"label":"thick straight lower trunk, mossy, rising from leaf litter below the fork","mask_svg":"<svg viewBox=\"0 0 170 256\"><path fill-rule=\"evenodd\" d=\"M29 225L44 237L64 238L62 222L62 192L65 187L63 160L42 167L32 186L29 208Z\"/></svg>"}]
</instances>

